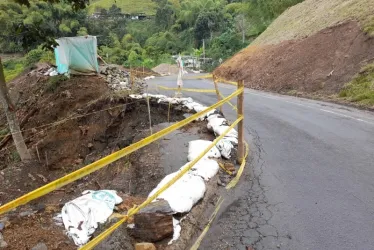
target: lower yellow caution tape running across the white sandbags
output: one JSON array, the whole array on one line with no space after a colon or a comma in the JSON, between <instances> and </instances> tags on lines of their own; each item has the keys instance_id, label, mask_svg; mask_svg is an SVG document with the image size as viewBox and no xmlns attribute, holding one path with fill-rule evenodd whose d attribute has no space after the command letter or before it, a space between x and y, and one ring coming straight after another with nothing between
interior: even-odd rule
<instances>
[{"instance_id":1,"label":"lower yellow caution tape running across the white sandbags","mask_svg":"<svg viewBox=\"0 0 374 250\"><path fill-rule=\"evenodd\" d=\"M149 197L147 200L145 200L142 204L137 206L134 209L131 209L125 218L108 228L106 231L101 233L98 237L94 238L90 242L88 242L86 245L80 248L80 250L88 250L93 249L95 246L97 246L101 241L103 241L107 236L109 236L114 230L116 230L122 223L126 222L127 217L132 217L134 214L138 213L142 208L145 208L149 203L151 203L154 199L156 199L162 192L164 192L166 189L168 189L170 186L172 186L177 180L179 180L183 175L185 175L188 171L191 170L191 168L199 161L201 160L216 144L219 142L227 133L230 132L231 129L233 129L240 121L243 120L243 116L239 117L228 129L224 131L222 135L217 137L210 145L207 147L201 154L196 157L193 161L191 161L185 168L183 168L181 171L178 172L176 176L174 176L173 179L171 179L168 183L166 183L162 188L160 188L156 193L154 193L151 197Z\"/></svg>"}]
</instances>

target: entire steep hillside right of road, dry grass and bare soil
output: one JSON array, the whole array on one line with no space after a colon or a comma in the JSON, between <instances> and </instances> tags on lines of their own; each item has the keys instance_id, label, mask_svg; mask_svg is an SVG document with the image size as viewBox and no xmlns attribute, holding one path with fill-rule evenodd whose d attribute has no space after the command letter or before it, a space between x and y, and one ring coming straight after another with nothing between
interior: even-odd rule
<instances>
[{"instance_id":1,"label":"entire steep hillside right of road, dry grass and bare soil","mask_svg":"<svg viewBox=\"0 0 374 250\"><path fill-rule=\"evenodd\" d=\"M306 0L214 73L251 88L373 108L373 35L374 1Z\"/></svg>"}]
</instances>

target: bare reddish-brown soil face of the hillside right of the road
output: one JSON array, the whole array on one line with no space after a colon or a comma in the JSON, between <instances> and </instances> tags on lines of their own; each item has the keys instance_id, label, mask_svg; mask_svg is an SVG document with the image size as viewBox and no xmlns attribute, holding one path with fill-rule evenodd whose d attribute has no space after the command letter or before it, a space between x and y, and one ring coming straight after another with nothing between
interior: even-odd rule
<instances>
[{"instance_id":1,"label":"bare reddish-brown soil face of the hillside right of the road","mask_svg":"<svg viewBox=\"0 0 374 250\"><path fill-rule=\"evenodd\" d=\"M287 93L338 93L360 68L374 60L374 38L348 21L301 40L249 46L215 70L245 85Z\"/></svg>"}]
</instances>

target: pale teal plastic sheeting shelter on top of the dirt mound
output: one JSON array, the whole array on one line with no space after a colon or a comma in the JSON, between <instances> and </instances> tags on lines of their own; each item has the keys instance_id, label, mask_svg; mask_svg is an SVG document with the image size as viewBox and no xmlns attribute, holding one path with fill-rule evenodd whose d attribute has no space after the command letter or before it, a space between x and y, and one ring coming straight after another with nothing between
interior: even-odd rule
<instances>
[{"instance_id":1,"label":"pale teal plastic sheeting shelter on top of the dirt mound","mask_svg":"<svg viewBox=\"0 0 374 250\"><path fill-rule=\"evenodd\" d=\"M97 62L97 40L95 36L62 37L56 40L55 48L57 72L69 70L82 73L99 72Z\"/></svg>"}]
</instances>

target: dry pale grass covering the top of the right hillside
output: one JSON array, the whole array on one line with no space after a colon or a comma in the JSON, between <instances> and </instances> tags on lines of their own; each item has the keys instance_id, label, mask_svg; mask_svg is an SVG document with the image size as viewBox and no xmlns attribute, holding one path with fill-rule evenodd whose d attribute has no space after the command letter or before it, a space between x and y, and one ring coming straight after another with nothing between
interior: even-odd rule
<instances>
[{"instance_id":1,"label":"dry pale grass covering the top of the right hillside","mask_svg":"<svg viewBox=\"0 0 374 250\"><path fill-rule=\"evenodd\" d=\"M308 0L286 10L253 44L277 44L303 38L349 19L359 21L363 30L374 36L373 12L373 0Z\"/></svg>"}]
</instances>

